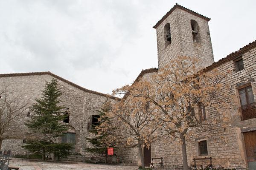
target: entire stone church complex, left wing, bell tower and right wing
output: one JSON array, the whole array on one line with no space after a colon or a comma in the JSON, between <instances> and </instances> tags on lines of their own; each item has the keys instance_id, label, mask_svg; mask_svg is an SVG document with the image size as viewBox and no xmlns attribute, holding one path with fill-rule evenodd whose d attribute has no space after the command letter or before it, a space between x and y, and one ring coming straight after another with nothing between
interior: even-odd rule
<instances>
[{"instance_id":1,"label":"entire stone church complex, left wing, bell tower and right wing","mask_svg":"<svg viewBox=\"0 0 256 170\"><path fill-rule=\"evenodd\" d=\"M157 33L158 68L177 56L189 56L201 59L198 67L206 71L213 68L223 72L232 70L225 82L229 85L230 96L227 99L232 103L225 130L210 138L202 132L195 132L193 139L187 143L188 162L190 166L193 159L212 157L214 167L256 169L256 41L214 62L209 20L176 3L153 26ZM157 68L143 70L135 81L157 71ZM7 82L11 87L25 91L27 98L34 99L40 96L44 81L52 77L58 79L63 89L62 98L70 115L67 122L70 130L65 135L76 144L76 152L90 157L83 147L87 144L85 137L93 137L90 125L97 121L97 116L93 116L97 115L95 109L106 99L118 102L119 98L82 88L50 72L0 74L0 85ZM204 119L210 119L211 116L211 113L204 112ZM29 119L29 113L24 115L26 119ZM226 143L222 142L221 136L226 138ZM10 139L3 143L3 148L15 150L15 154L24 154L26 150L20 147L23 142L23 139ZM165 167L181 167L182 153L179 146L175 142L169 145L152 143L149 149L144 149L146 165L149 165L151 158L163 157ZM124 149L120 154L125 162L140 164L136 148Z\"/></svg>"}]
</instances>

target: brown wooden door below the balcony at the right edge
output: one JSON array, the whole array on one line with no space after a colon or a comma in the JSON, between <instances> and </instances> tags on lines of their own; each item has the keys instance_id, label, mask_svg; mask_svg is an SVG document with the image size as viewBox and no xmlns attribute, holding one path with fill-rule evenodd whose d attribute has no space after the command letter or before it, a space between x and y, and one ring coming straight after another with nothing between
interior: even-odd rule
<instances>
[{"instance_id":1,"label":"brown wooden door below the balcony at the right edge","mask_svg":"<svg viewBox=\"0 0 256 170\"><path fill-rule=\"evenodd\" d=\"M249 170L256 169L256 130L244 133L244 143Z\"/></svg>"}]
</instances>

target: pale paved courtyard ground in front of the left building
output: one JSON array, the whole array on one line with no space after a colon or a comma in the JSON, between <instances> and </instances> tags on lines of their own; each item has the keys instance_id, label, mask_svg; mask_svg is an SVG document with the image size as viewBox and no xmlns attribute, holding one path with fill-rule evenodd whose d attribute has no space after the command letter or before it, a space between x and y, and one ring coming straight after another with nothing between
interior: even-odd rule
<instances>
[{"instance_id":1,"label":"pale paved courtyard ground in front of the left building","mask_svg":"<svg viewBox=\"0 0 256 170\"><path fill-rule=\"evenodd\" d=\"M43 162L24 159L12 159L10 167L20 167L20 170L136 170L137 167L121 165L89 164L83 162Z\"/></svg>"}]
</instances>

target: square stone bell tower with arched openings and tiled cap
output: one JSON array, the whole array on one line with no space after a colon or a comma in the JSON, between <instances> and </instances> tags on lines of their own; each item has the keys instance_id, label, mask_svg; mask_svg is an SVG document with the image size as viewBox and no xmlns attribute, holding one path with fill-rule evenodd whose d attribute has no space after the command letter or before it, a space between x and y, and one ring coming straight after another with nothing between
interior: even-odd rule
<instances>
[{"instance_id":1,"label":"square stone bell tower with arched openings and tiled cap","mask_svg":"<svg viewBox=\"0 0 256 170\"><path fill-rule=\"evenodd\" d=\"M177 56L200 59L198 67L214 62L207 18L176 3L153 28L157 30L158 68Z\"/></svg>"}]
</instances>

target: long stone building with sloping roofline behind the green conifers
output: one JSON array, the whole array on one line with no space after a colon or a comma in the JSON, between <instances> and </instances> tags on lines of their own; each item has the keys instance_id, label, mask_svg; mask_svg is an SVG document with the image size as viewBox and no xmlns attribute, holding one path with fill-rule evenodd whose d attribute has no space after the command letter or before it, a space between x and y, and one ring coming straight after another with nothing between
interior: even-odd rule
<instances>
[{"instance_id":1,"label":"long stone building with sloping roofline behind the green conifers","mask_svg":"<svg viewBox=\"0 0 256 170\"><path fill-rule=\"evenodd\" d=\"M61 104L66 107L65 112L69 114L69 118L65 119L64 122L68 123L70 128L64 133L62 142L73 142L75 144L74 151L81 153L85 159L90 159L92 154L85 152L84 147L90 146L86 137L94 137L94 133L90 133L90 128L94 122L97 122L96 115L99 112L96 109L99 109L102 102L106 100L119 101L119 98L82 88L51 72L0 74L0 86L9 85L10 89L21 91L24 99L30 99L34 102L35 98L41 97L45 81L49 82L52 78L58 80L58 85L63 92L61 96L63 102ZM22 121L28 120L32 114L29 110L26 111ZM25 142L25 139L4 140L2 150L11 149L14 155L26 155L27 151L21 147ZM95 155L94 157L96 158Z\"/></svg>"}]
</instances>

